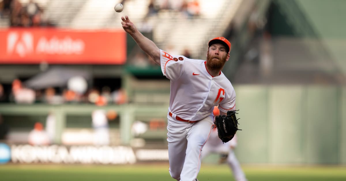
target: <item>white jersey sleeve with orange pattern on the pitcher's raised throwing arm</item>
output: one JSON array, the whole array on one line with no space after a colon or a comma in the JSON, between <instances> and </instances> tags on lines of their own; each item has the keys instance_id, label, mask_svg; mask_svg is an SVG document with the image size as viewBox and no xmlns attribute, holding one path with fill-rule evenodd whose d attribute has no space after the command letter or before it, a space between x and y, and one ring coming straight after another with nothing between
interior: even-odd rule
<instances>
[{"instance_id":1,"label":"white jersey sleeve with orange pattern on the pitcher's raised throwing arm","mask_svg":"<svg viewBox=\"0 0 346 181\"><path fill-rule=\"evenodd\" d=\"M160 49L161 71L170 80L176 80L184 71L184 62Z\"/></svg>"}]
</instances>

